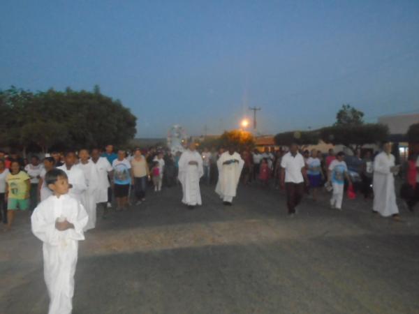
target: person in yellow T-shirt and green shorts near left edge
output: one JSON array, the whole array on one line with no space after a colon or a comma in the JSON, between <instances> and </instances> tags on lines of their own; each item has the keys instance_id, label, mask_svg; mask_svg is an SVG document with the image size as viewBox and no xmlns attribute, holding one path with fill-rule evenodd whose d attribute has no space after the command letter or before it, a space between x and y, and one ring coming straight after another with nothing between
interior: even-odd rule
<instances>
[{"instance_id":1,"label":"person in yellow T-shirt and green shorts near left edge","mask_svg":"<svg viewBox=\"0 0 419 314\"><path fill-rule=\"evenodd\" d=\"M20 170L20 163L13 160L10 163L10 173L6 177L6 200L7 200L7 227L12 227L15 210L26 211L29 209L29 193L31 179L26 172Z\"/></svg>"}]
</instances>

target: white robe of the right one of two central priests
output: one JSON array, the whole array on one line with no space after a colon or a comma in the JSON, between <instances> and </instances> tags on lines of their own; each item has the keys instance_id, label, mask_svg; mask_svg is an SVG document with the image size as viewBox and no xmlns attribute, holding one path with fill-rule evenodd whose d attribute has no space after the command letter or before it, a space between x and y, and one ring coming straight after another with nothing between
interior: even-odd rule
<instances>
[{"instance_id":1,"label":"white robe of the right one of two central priests","mask_svg":"<svg viewBox=\"0 0 419 314\"><path fill-rule=\"evenodd\" d=\"M223 165L228 160L237 160L236 163ZM236 195L237 184L239 184L240 174L242 173L244 161L240 154L234 153L230 155L228 151L221 154L216 165L219 170L219 180L216 184L215 192L226 201L231 202Z\"/></svg>"}]
</instances>

